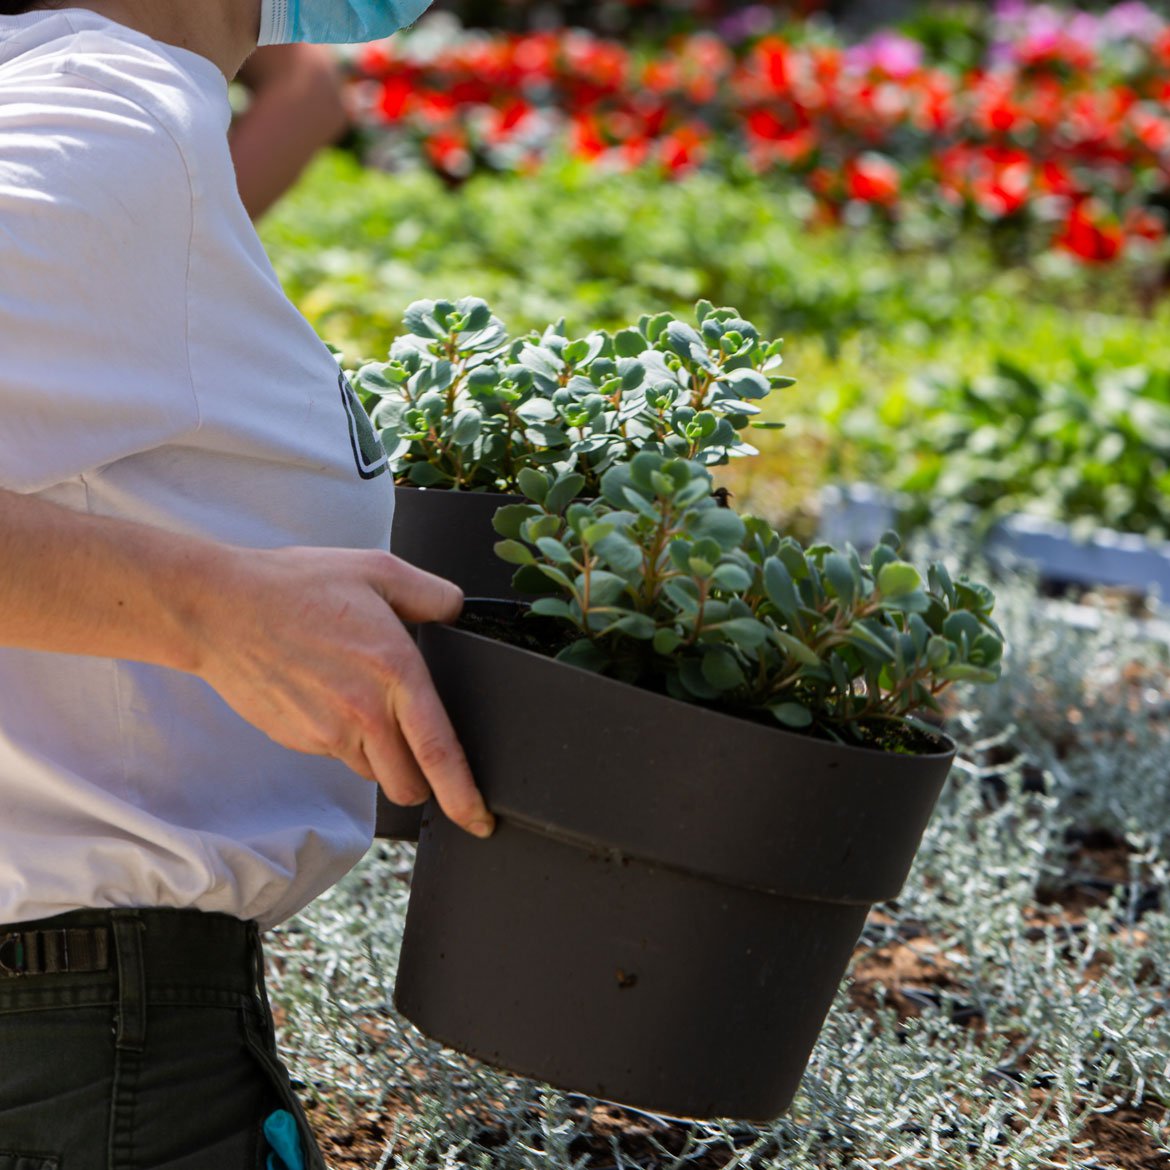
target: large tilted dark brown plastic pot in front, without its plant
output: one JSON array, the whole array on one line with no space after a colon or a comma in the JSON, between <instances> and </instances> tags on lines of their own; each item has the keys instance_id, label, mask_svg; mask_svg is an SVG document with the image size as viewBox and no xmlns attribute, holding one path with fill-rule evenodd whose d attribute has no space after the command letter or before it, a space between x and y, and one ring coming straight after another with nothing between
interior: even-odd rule
<instances>
[{"instance_id":1,"label":"large tilted dark brown plastic pot in front, without its plant","mask_svg":"<svg viewBox=\"0 0 1170 1170\"><path fill-rule=\"evenodd\" d=\"M498 828L425 807L399 1011L569 1092L783 1113L954 744L842 746L452 627L419 645Z\"/></svg>"}]
</instances>

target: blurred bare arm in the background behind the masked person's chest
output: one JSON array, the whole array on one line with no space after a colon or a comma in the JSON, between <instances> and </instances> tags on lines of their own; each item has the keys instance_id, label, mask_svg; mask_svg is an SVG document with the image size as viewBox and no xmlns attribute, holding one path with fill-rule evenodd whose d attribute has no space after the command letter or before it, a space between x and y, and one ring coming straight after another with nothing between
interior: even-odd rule
<instances>
[{"instance_id":1,"label":"blurred bare arm in the background behind the masked person's chest","mask_svg":"<svg viewBox=\"0 0 1170 1170\"><path fill-rule=\"evenodd\" d=\"M297 180L314 154L349 128L333 54L322 44L269 44L235 77L249 94L228 144L240 198L255 220Z\"/></svg>"}]
</instances>

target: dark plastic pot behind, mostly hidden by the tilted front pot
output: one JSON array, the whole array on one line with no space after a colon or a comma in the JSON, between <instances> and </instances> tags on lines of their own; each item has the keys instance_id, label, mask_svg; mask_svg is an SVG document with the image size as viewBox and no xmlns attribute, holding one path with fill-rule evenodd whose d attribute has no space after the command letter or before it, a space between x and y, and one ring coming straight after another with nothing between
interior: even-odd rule
<instances>
[{"instance_id":1,"label":"dark plastic pot behind, mostly hidden by the tilted front pot","mask_svg":"<svg viewBox=\"0 0 1170 1170\"><path fill-rule=\"evenodd\" d=\"M495 555L500 539L491 526L496 509L523 503L523 496L441 488L394 488L394 556L454 581L464 597L519 598L511 586L515 565ZM373 835L417 841L422 810L404 808L378 792Z\"/></svg>"}]
</instances>

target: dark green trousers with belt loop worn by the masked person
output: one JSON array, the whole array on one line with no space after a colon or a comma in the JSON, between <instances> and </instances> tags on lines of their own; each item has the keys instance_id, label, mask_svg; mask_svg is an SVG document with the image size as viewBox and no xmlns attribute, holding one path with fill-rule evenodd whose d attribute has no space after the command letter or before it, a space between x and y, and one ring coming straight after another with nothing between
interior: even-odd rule
<instances>
[{"instance_id":1,"label":"dark green trousers with belt loop worn by the masked person","mask_svg":"<svg viewBox=\"0 0 1170 1170\"><path fill-rule=\"evenodd\" d=\"M263 1170L278 1109L305 1170L324 1170L253 923L78 910L0 925L0 1170Z\"/></svg>"}]
</instances>

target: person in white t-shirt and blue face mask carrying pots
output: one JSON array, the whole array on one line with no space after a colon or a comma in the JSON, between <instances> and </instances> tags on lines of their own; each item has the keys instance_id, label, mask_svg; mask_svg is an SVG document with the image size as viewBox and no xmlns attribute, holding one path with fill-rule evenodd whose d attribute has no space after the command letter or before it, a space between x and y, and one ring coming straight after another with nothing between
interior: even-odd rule
<instances>
[{"instance_id":1,"label":"person in white t-shirt and blue face mask carrying pots","mask_svg":"<svg viewBox=\"0 0 1170 1170\"><path fill-rule=\"evenodd\" d=\"M259 41L410 19L0 0L2 1166L253 1170L291 1123L322 1170L261 931L362 856L374 784L493 831L404 627L461 594L387 551L227 144Z\"/></svg>"}]
</instances>

